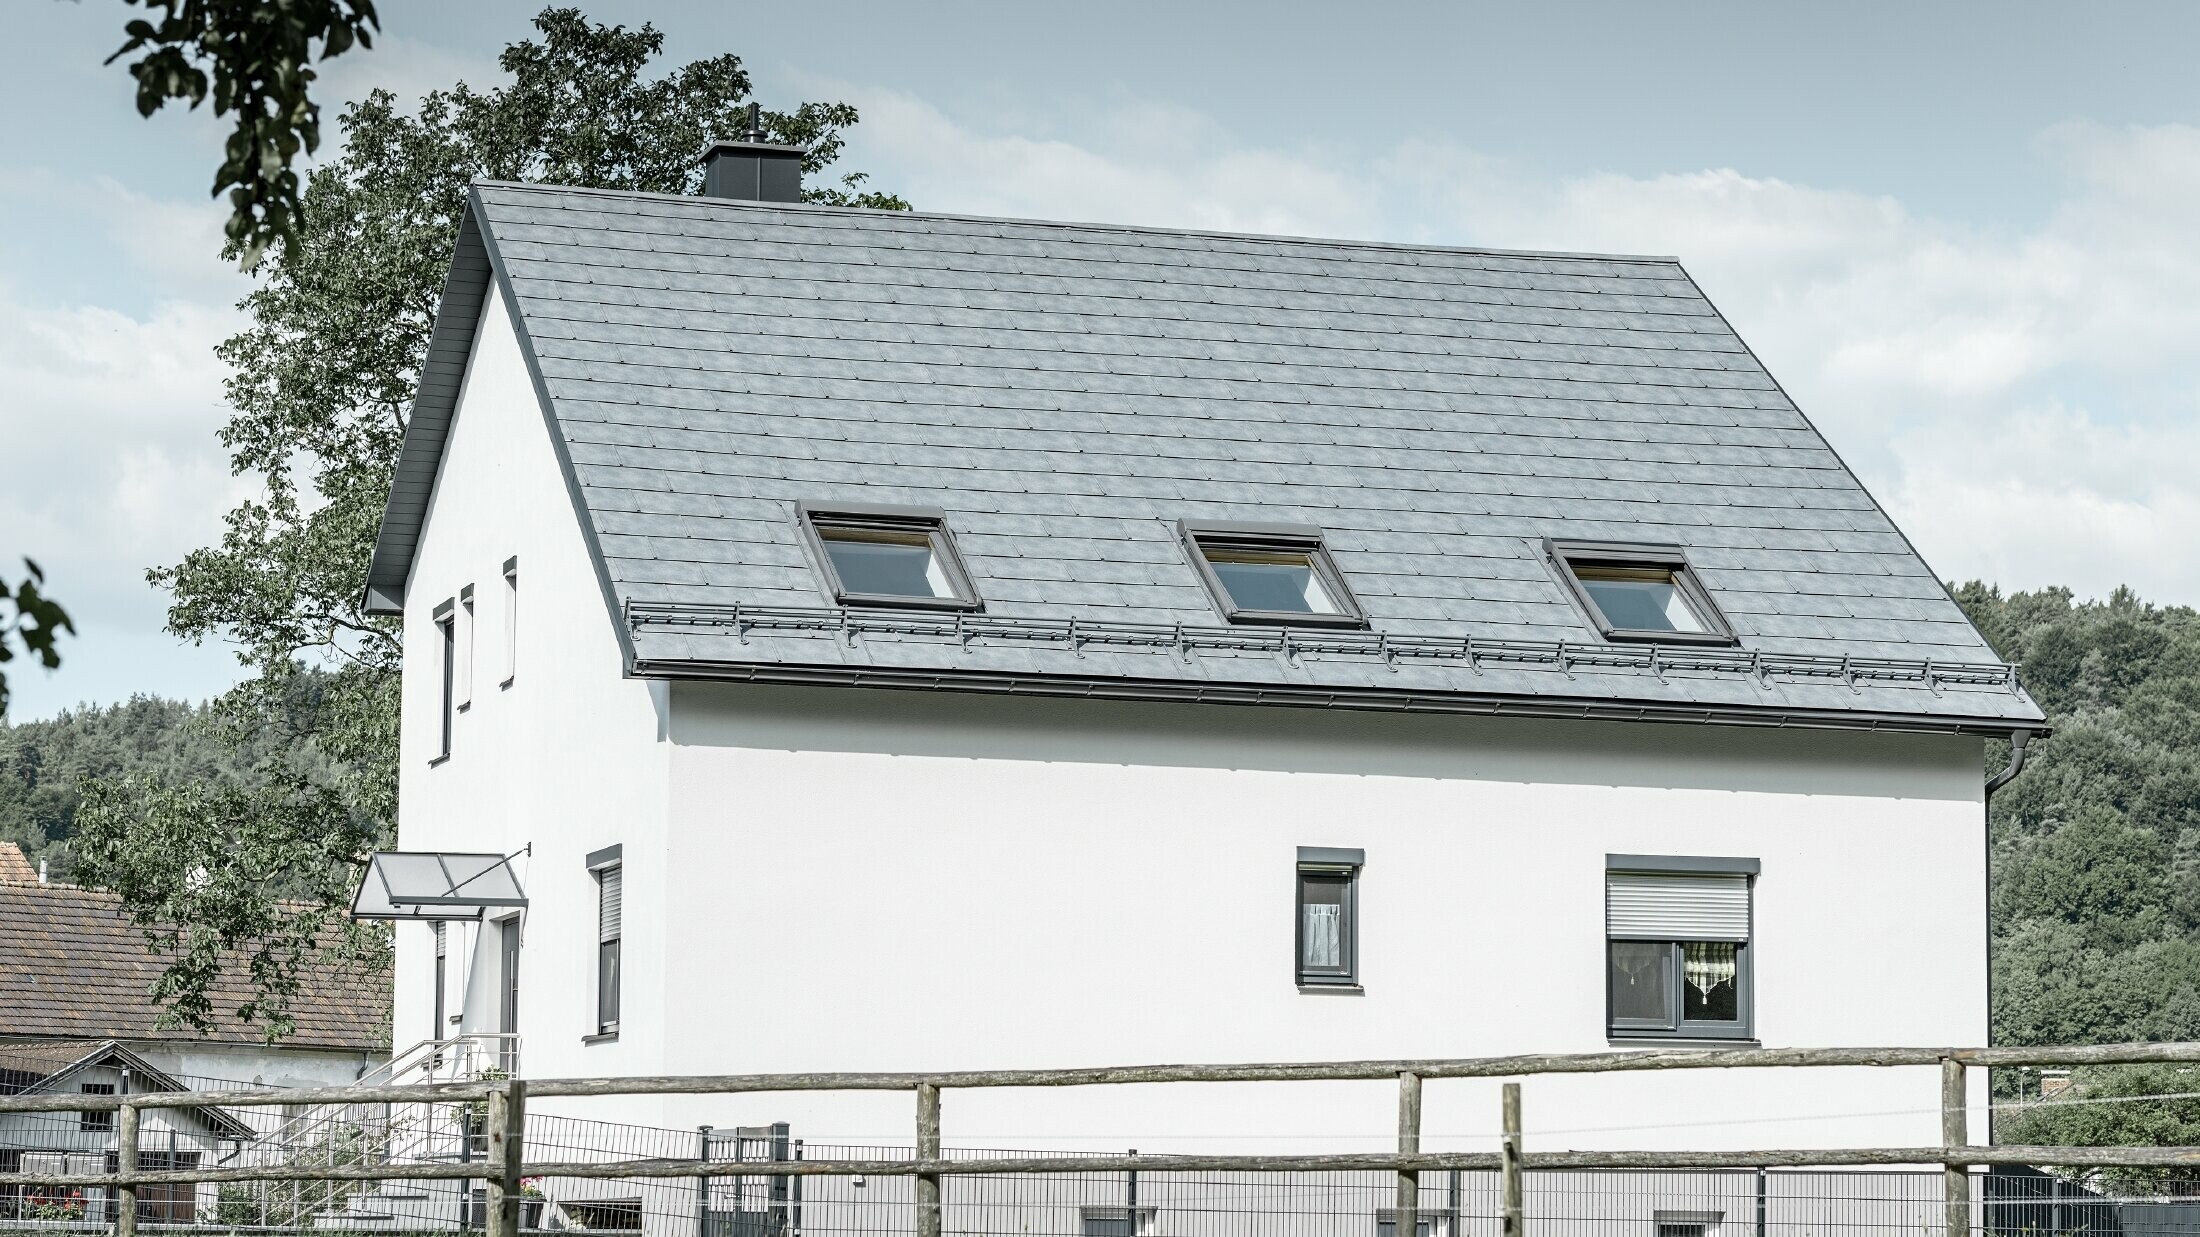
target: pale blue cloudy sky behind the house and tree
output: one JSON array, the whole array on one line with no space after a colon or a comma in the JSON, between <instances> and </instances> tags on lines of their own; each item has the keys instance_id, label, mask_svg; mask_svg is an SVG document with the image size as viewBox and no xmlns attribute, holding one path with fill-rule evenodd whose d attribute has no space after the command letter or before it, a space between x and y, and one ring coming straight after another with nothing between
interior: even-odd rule
<instances>
[{"instance_id":1,"label":"pale blue cloudy sky behind the house and tree","mask_svg":"<svg viewBox=\"0 0 2200 1237\"><path fill-rule=\"evenodd\" d=\"M497 79L539 4L378 0L334 117ZM2200 603L2200 4L596 0L917 209L1679 255L1945 579ZM119 0L0 44L0 574L77 621L13 720L207 698L145 570L249 497L224 125L141 119Z\"/></svg>"}]
</instances>

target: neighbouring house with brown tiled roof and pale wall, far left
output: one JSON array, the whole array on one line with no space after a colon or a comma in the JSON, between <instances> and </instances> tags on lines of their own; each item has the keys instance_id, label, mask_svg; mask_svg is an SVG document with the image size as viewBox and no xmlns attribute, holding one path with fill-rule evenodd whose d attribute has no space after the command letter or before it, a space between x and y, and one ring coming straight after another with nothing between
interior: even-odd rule
<instances>
[{"instance_id":1,"label":"neighbouring house with brown tiled roof and pale wall, far left","mask_svg":"<svg viewBox=\"0 0 2200 1237\"><path fill-rule=\"evenodd\" d=\"M22 852L0 843L0 876L9 858L22 863ZM389 1057L389 977L378 971L312 975L295 1001L297 1032L268 1043L264 1026L227 1017L251 995L238 957L213 988L213 1030L161 1026L152 988L167 960L147 946L121 898L40 883L35 872L0 878L0 1070L18 1070L29 1054L112 1043L169 1079L326 1087Z\"/></svg>"}]
</instances>

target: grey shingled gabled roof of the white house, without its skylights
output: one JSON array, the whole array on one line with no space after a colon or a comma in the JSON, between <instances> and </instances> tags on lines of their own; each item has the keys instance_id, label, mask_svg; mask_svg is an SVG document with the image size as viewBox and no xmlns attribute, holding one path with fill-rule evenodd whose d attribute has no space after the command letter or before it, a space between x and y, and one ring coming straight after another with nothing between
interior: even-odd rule
<instances>
[{"instance_id":1,"label":"grey shingled gabled roof of the white house, without its skylights","mask_svg":"<svg viewBox=\"0 0 2200 1237\"><path fill-rule=\"evenodd\" d=\"M482 183L370 596L502 282L629 669L2006 731L2039 711L1670 258ZM796 502L937 506L979 616L845 612ZM1324 530L1366 632L1225 627L1179 519ZM1604 643L1547 537L1687 550Z\"/></svg>"}]
</instances>

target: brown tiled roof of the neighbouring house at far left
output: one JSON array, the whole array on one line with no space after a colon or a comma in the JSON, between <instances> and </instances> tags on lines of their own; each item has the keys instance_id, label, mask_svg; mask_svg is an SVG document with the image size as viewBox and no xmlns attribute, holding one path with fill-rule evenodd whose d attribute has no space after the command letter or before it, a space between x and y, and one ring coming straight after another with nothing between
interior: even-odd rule
<instances>
[{"instance_id":1,"label":"brown tiled roof of the neighbouring house at far left","mask_svg":"<svg viewBox=\"0 0 2200 1237\"><path fill-rule=\"evenodd\" d=\"M260 1043L231 1017L249 986L235 957L213 990L213 1032L161 1028L152 986L167 966L121 898L73 885L0 885L0 1037ZM389 973L319 968L293 1001L284 1048L389 1050Z\"/></svg>"}]
</instances>

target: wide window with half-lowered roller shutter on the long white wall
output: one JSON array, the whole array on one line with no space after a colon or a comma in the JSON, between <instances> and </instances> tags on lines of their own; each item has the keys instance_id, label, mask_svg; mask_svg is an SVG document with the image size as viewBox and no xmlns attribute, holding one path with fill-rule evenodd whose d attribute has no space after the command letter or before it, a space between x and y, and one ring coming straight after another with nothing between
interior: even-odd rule
<instances>
[{"instance_id":1,"label":"wide window with half-lowered roller shutter on the long white wall","mask_svg":"<svg viewBox=\"0 0 2200 1237\"><path fill-rule=\"evenodd\" d=\"M1751 1039L1756 858L1606 856L1615 1039Z\"/></svg>"}]
</instances>

